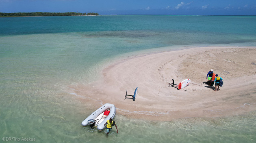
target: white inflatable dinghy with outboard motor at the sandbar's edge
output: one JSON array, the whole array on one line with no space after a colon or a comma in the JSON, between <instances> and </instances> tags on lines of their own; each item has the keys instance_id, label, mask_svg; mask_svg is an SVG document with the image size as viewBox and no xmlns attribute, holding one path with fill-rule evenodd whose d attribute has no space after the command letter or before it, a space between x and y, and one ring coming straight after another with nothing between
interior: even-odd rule
<instances>
[{"instance_id":1,"label":"white inflatable dinghy with outboard motor at the sandbar's edge","mask_svg":"<svg viewBox=\"0 0 256 143\"><path fill-rule=\"evenodd\" d=\"M104 112L110 110L108 115L104 115ZM108 111L107 111L108 112ZM106 103L96 111L94 111L90 116L82 121L82 126L90 125L97 126L98 130L103 130L105 128L104 124L109 118L115 117L115 105Z\"/></svg>"}]
</instances>

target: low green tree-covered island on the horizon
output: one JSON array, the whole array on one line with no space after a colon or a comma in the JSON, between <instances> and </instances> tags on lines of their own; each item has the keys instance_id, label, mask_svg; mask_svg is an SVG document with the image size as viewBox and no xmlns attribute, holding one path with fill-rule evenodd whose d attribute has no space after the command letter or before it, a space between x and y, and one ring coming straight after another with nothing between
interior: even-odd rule
<instances>
[{"instance_id":1,"label":"low green tree-covered island on the horizon","mask_svg":"<svg viewBox=\"0 0 256 143\"><path fill-rule=\"evenodd\" d=\"M40 17L40 16L77 16L77 15L99 15L98 13L0 13L0 17Z\"/></svg>"}]
</instances>

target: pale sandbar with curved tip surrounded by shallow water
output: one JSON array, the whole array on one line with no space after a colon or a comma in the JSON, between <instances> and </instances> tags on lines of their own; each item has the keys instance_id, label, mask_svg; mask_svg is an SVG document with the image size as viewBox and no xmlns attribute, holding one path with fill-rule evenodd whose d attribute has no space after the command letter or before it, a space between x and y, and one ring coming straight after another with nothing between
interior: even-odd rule
<instances>
[{"instance_id":1,"label":"pale sandbar with curved tip surrounded by shallow water","mask_svg":"<svg viewBox=\"0 0 256 143\"><path fill-rule=\"evenodd\" d=\"M256 48L197 47L142 55L118 61L102 71L101 80L76 86L76 94L89 97L92 110L112 103L128 118L170 121L186 117L233 116L256 110ZM223 78L220 91L207 86L210 69ZM177 90L169 87L190 78ZM125 91L135 101L124 100Z\"/></svg>"}]
</instances>

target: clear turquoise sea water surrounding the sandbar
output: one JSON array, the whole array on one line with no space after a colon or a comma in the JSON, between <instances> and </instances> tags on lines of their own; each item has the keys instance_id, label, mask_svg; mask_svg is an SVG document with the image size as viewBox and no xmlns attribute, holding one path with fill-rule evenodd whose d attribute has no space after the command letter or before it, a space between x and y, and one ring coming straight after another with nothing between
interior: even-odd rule
<instances>
[{"instance_id":1,"label":"clear turquoise sea water surrounding the sandbar","mask_svg":"<svg viewBox=\"0 0 256 143\"><path fill-rule=\"evenodd\" d=\"M0 18L0 142L255 143L256 111L172 122L117 114L119 133L113 129L106 138L105 130L81 126L95 109L66 92L70 85L97 80L106 65L132 55L193 46L256 46L255 23L256 16Z\"/></svg>"}]
</instances>

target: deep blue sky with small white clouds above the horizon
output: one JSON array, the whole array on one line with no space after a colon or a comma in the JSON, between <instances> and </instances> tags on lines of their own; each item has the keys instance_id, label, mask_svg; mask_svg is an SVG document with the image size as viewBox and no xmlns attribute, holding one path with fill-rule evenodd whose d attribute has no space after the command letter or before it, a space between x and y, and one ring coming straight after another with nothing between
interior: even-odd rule
<instances>
[{"instance_id":1,"label":"deep blue sky with small white clouds above the horizon","mask_svg":"<svg viewBox=\"0 0 256 143\"><path fill-rule=\"evenodd\" d=\"M100 15L256 15L256 0L0 0L1 13Z\"/></svg>"}]
</instances>

